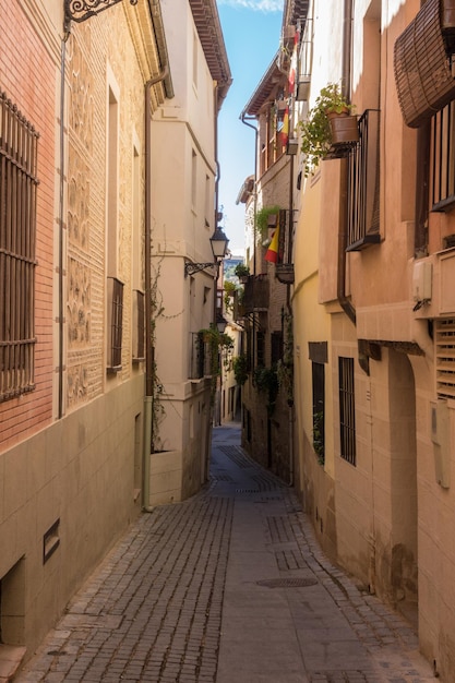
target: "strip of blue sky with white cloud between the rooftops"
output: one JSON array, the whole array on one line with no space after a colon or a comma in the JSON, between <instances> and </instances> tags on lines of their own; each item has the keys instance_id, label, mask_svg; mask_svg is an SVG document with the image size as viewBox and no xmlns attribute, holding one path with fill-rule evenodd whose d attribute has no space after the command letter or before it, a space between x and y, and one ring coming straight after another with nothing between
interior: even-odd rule
<instances>
[{"instance_id":1,"label":"strip of blue sky with white cloud between the rooftops","mask_svg":"<svg viewBox=\"0 0 455 683\"><path fill-rule=\"evenodd\" d=\"M254 172L254 132L240 113L279 47L283 0L217 0L232 85L218 119L219 206L229 249L243 249L244 205L236 206L247 176Z\"/></svg>"}]
</instances>

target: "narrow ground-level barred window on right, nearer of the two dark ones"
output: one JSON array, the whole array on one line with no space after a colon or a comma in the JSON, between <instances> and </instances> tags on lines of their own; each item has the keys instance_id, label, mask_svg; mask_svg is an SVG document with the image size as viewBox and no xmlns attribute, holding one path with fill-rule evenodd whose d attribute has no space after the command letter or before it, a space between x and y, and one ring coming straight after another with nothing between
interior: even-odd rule
<instances>
[{"instance_id":1,"label":"narrow ground-level barred window on right, nearer of the two dark ones","mask_svg":"<svg viewBox=\"0 0 455 683\"><path fill-rule=\"evenodd\" d=\"M356 465L356 405L354 359L338 358L340 456Z\"/></svg>"}]
</instances>

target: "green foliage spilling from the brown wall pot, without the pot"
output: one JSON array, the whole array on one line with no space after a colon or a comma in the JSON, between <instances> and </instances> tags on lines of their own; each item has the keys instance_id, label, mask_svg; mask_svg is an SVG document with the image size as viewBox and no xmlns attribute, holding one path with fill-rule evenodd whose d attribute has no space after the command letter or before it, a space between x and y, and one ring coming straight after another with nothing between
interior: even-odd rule
<instances>
[{"instance_id":1,"label":"green foliage spilling from the brown wall pot, without the pot","mask_svg":"<svg viewBox=\"0 0 455 683\"><path fill-rule=\"evenodd\" d=\"M306 121L299 121L301 152L306 155L304 176L314 173L332 144L331 113L351 113L350 105L337 83L327 83L316 97L314 106L308 112Z\"/></svg>"}]
</instances>

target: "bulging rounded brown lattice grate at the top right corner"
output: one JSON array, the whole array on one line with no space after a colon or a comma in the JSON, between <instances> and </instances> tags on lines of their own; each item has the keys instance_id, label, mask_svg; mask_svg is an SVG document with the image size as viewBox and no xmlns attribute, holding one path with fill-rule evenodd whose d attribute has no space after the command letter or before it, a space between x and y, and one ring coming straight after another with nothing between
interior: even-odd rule
<instances>
[{"instance_id":1,"label":"bulging rounded brown lattice grate at the top right corner","mask_svg":"<svg viewBox=\"0 0 455 683\"><path fill-rule=\"evenodd\" d=\"M455 80L441 28L440 0L428 0L394 46L403 118L418 128L455 97Z\"/></svg>"}]
</instances>

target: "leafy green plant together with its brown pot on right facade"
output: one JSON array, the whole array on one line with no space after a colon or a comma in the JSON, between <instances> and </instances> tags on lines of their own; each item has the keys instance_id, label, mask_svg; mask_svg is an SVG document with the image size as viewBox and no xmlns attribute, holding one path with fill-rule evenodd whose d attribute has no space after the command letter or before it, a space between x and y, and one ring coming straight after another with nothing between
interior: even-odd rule
<instances>
[{"instance_id":1,"label":"leafy green plant together with its brown pot on right facade","mask_svg":"<svg viewBox=\"0 0 455 683\"><path fill-rule=\"evenodd\" d=\"M304 175L314 172L333 145L346 145L359 140L357 117L337 83L322 88L306 121L299 122L301 152L306 155Z\"/></svg>"}]
</instances>

